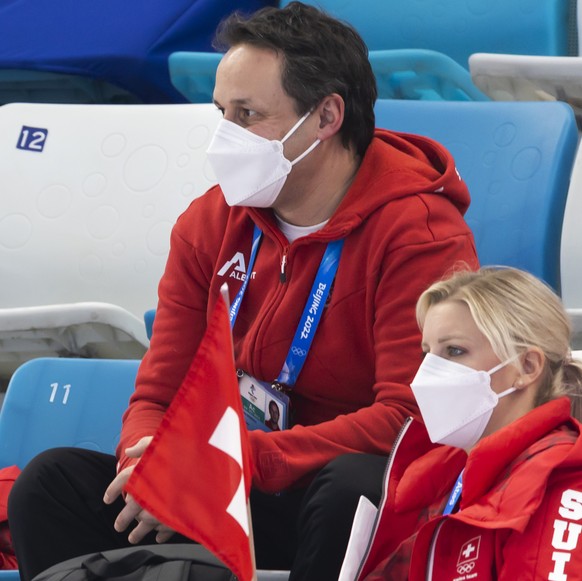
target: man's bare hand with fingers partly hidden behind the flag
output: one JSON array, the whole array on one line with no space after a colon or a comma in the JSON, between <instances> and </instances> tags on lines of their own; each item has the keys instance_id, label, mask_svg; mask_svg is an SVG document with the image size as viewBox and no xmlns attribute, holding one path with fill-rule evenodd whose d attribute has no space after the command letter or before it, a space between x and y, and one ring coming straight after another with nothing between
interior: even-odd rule
<instances>
[{"instance_id":1,"label":"man's bare hand with fingers partly hidden behind the flag","mask_svg":"<svg viewBox=\"0 0 582 581\"><path fill-rule=\"evenodd\" d=\"M148 447L152 441L152 436L145 436L142 438L135 446L125 449L125 453L130 458L142 457L145 449ZM124 486L127 484L129 477L133 473L135 464L124 468L117 474L117 476L112 480L111 484L107 487L105 495L103 496L103 502L105 504L111 504L117 497L119 497ZM115 524L113 525L117 532L123 532L127 527L136 520L138 525L130 532L128 540L132 544L139 543L148 533L153 530L157 531L156 542L164 543L173 534L174 531L169 527L163 525L159 520L154 518L147 510L144 510L134 499L128 494L125 497L125 507L119 513L115 519Z\"/></svg>"}]
</instances>

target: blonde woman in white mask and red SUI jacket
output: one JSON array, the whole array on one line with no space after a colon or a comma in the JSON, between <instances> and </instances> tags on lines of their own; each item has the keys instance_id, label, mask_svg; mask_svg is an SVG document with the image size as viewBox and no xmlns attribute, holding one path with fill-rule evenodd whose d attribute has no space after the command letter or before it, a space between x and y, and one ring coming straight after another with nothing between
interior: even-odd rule
<instances>
[{"instance_id":1,"label":"blonde woman in white mask and red SUI jacket","mask_svg":"<svg viewBox=\"0 0 582 581\"><path fill-rule=\"evenodd\" d=\"M358 579L582 579L582 367L559 299L485 268L432 285L417 318L426 429L394 446Z\"/></svg>"}]
</instances>

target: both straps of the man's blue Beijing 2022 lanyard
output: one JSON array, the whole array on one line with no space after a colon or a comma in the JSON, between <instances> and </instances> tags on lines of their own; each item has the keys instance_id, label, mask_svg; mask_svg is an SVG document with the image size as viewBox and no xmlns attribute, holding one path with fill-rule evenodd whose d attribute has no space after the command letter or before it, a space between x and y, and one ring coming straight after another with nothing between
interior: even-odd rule
<instances>
[{"instance_id":1,"label":"both straps of the man's blue Beijing 2022 lanyard","mask_svg":"<svg viewBox=\"0 0 582 581\"><path fill-rule=\"evenodd\" d=\"M242 299L249 285L262 235L263 233L260 228L255 224L253 246L251 248L246 277L230 306L229 317L231 328L234 327ZM283 383L286 386L295 385L299 372L307 359L307 353L311 347L315 331L321 321L325 303L339 266L343 245L343 240L336 240L327 245L325 254L321 259L321 264L315 275L315 281L311 287L309 298L303 309L299 326L297 327L297 331L295 331L295 336L293 337L287 358L283 364L283 369L277 378L278 383Z\"/></svg>"}]
</instances>

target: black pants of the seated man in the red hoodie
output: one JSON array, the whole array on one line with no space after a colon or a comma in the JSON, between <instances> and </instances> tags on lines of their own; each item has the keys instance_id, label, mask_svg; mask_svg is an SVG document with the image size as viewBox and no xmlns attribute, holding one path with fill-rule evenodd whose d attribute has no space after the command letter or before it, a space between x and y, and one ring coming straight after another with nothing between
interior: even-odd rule
<instances>
[{"instance_id":1,"label":"black pants of the seated man in the red hoodie","mask_svg":"<svg viewBox=\"0 0 582 581\"><path fill-rule=\"evenodd\" d=\"M123 500L106 505L113 456L57 448L34 458L17 479L8 522L23 581L72 557L129 546L113 522ZM378 504L386 459L349 454L326 466L307 490L251 493L259 569L291 569L293 581L336 581L360 495ZM185 542L175 535L171 542ZM154 534L143 543L155 543Z\"/></svg>"}]
</instances>

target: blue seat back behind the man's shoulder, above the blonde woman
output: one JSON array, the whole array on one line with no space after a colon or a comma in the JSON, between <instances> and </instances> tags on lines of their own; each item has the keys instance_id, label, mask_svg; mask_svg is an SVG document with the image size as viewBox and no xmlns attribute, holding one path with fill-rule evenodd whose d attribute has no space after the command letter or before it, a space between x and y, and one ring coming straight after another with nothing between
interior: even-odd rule
<instances>
[{"instance_id":1,"label":"blue seat back behind the man's shoulder, above the blonde woman","mask_svg":"<svg viewBox=\"0 0 582 581\"><path fill-rule=\"evenodd\" d=\"M471 192L483 265L525 269L560 292L564 207L578 134L565 103L381 100L379 127L436 139Z\"/></svg>"}]
</instances>

